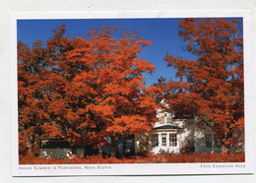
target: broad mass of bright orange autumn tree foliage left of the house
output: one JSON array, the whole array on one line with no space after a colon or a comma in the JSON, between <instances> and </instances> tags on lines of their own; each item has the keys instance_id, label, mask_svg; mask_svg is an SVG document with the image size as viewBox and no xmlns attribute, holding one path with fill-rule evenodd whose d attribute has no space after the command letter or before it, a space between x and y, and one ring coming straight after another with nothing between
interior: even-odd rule
<instances>
[{"instance_id":1,"label":"broad mass of bright orange autumn tree foliage left of the house","mask_svg":"<svg viewBox=\"0 0 256 183\"><path fill-rule=\"evenodd\" d=\"M98 147L110 137L114 155L118 138L149 131L156 120L158 89L146 88L143 77L155 67L137 56L151 42L132 31L112 36L110 27L88 39L65 30L45 46L18 43L20 146L50 136Z\"/></svg>"}]
</instances>

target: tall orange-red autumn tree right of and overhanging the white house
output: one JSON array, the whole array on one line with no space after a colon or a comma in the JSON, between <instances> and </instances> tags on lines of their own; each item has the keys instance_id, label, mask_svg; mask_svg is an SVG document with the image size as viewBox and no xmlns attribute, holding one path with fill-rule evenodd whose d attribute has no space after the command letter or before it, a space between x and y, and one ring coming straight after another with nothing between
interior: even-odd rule
<instances>
[{"instance_id":1,"label":"tall orange-red autumn tree right of and overhanging the white house","mask_svg":"<svg viewBox=\"0 0 256 183\"><path fill-rule=\"evenodd\" d=\"M243 38L236 19L184 19L178 35L194 60L165 57L178 81L164 85L164 98L176 112L197 116L210 128L223 152L242 141L244 129Z\"/></svg>"}]
</instances>

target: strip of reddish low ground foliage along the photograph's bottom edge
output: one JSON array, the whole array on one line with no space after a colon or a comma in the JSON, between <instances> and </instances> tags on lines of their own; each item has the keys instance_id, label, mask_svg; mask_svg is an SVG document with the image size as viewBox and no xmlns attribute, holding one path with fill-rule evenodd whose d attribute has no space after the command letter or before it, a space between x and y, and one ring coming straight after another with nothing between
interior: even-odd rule
<instances>
[{"instance_id":1,"label":"strip of reddish low ground foliage along the photograph's bottom edge","mask_svg":"<svg viewBox=\"0 0 256 183\"><path fill-rule=\"evenodd\" d=\"M192 154L155 154L147 157L103 158L101 155L87 158L73 157L66 159L39 158L32 154L20 155L20 164L104 164L104 163L192 163L192 162L244 162L242 153L192 153Z\"/></svg>"}]
</instances>

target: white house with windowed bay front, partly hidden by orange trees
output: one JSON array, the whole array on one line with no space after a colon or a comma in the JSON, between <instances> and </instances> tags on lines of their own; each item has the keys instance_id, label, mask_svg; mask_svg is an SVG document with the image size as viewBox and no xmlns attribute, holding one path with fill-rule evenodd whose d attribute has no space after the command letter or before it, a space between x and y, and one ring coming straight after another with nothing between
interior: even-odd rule
<instances>
[{"instance_id":1,"label":"white house with windowed bay front, partly hidden by orange trees","mask_svg":"<svg viewBox=\"0 0 256 183\"><path fill-rule=\"evenodd\" d=\"M161 101L163 102L163 100ZM195 125L194 116L175 118L174 113L158 110L159 121L153 130L145 135L135 136L135 153L150 150L154 153L178 153L184 147L194 147L194 152L222 152L221 143L215 139L214 132Z\"/></svg>"}]
</instances>

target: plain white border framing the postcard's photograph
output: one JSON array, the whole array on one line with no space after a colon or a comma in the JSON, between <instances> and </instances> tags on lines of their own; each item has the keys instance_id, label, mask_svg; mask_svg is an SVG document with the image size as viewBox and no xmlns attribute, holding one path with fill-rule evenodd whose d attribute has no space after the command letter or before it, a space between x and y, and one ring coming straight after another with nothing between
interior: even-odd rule
<instances>
[{"instance_id":1,"label":"plain white border framing the postcard's photograph","mask_svg":"<svg viewBox=\"0 0 256 183\"><path fill-rule=\"evenodd\" d=\"M243 17L244 71L245 71L245 162L243 163L152 163L152 164L62 164L62 165L19 165L18 157L18 98L17 98L17 20L28 19L128 19L128 18L200 18L200 17ZM13 13L11 15L11 97L12 97L12 164L13 176L55 175L166 175L166 174L234 174L253 172L252 138L252 70L251 70L251 20L249 11L183 11L183 12L95 12L95 13ZM232 166L215 168L215 165ZM110 166L111 169L97 169ZM208 168L202 168L206 165ZM236 167L244 165L245 167ZM59 169L61 167L83 169ZM32 170L19 169L22 167ZM34 169L48 167L48 170ZM56 168L56 169L55 169Z\"/></svg>"}]
</instances>

